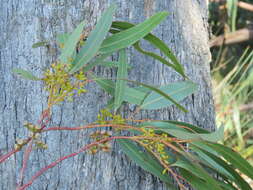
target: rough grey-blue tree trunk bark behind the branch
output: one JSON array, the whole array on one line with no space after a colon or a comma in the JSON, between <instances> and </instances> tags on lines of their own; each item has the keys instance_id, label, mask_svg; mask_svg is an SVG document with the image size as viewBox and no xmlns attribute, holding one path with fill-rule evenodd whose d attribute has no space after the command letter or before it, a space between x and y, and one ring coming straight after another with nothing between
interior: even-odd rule
<instances>
[{"instance_id":1,"label":"rough grey-blue tree trunk bark behind the branch","mask_svg":"<svg viewBox=\"0 0 253 190\"><path fill-rule=\"evenodd\" d=\"M2 0L0 3L0 154L13 147L15 139L27 135L25 121L36 122L45 108L46 94L42 84L22 80L11 72L13 68L32 70L41 75L57 55L55 47L32 49L33 43L55 39L59 32L71 31L86 19L92 25L112 2L118 5L117 19L141 22L155 12L171 14L154 33L164 40L184 65L187 75L199 84L197 93L183 105L182 113L175 107L143 112L142 117L177 119L214 130L214 111L210 86L210 52L207 32L206 1L196 0ZM143 43L148 50L152 47ZM131 79L149 84L166 84L181 80L171 69L129 50L133 65ZM97 68L104 76L114 70ZM89 85L89 93L72 103L55 107L50 125L75 126L92 122L107 96ZM133 107L125 108L126 115ZM26 172L27 181L35 171L60 156L78 150L88 142L87 132L51 132L43 134L49 149L32 153ZM29 188L34 190L164 190L159 180L130 162L117 145L111 153L95 156L81 154L64 161L41 176ZM22 153L12 156L0 166L0 189L15 189Z\"/></svg>"}]
</instances>

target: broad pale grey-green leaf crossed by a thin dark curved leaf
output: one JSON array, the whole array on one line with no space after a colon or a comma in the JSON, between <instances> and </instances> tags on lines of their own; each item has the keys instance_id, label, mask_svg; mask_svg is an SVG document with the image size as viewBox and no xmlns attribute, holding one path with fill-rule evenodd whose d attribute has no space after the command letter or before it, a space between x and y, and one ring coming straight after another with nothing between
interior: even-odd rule
<instances>
[{"instance_id":1,"label":"broad pale grey-green leaf crossed by a thin dark curved leaf","mask_svg":"<svg viewBox=\"0 0 253 190\"><path fill-rule=\"evenodd\" d=\"M144 100L141 105L142 109L160 109L168 107L194 93L197 90L197 85L190 81L176 82L161 86L159 90L169 96L173 101L168 101L168 98L161 96L161 94L156 91L153 91Z\"/></svg>"}]
</instances>

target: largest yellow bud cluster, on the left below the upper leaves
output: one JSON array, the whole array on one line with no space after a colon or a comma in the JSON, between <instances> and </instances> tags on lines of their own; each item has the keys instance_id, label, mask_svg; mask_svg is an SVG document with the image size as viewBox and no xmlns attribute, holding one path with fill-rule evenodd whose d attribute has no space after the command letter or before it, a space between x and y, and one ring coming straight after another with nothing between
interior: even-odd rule
<instances>
[{"instance_id":1,"label":"largest yellow bud cluster, on the left below the upper leaves","mask_svg":"<svg viewBox=\"0 0 253 190\"><path fill-rule=\"evenodd\" d=\"M85 93L84 86L87 83L85 74L80 71L69 74L70 64L53 63L51 68L44 73L43 81L45 90L49 92L48 105L52 106L64 101L65 98L72 100L72 96Z\"/></svg>"}]
</instances>

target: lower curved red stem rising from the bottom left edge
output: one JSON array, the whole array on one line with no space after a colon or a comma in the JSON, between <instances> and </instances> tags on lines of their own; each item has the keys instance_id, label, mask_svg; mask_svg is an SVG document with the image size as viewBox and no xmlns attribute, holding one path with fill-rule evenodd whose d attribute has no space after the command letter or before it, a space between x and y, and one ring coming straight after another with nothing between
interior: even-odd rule
<instances>
[{"instance_id":1,"label":"lower curved red stem rising from the bottom left edge","mask_svg":"<svg viewBox=\"0 0 253 190\"><path fill-rule=\"evenodd\" d=\"M58 160L56 160L55 162L52 162L51 164L49 164L46 167L42 168L34 176L32 176L32 178L30 179L30 181L28 181L28 183L26 183L23 186L19 187L17 190L24 190L24 189L26 189L28 186L32 185L32 183L34 182L35 179L37 179L39 176L41 176L48 169L55 167L57 164L59 164L63 160L66 160L68 158L74 157L74 156L76 156L76 155L78 155L78 154L86 151L87 149L100 144L100 143L111 141L111 140L114 140L114 139L132 139L132 138L131 137L126 137L126 136L108 137L106 139L102 139L100 141L96 141L96 142L90 143L88 145L85 145L79 151L71 153L71 154L66 155L66 156L63 156L63 157L59 158Z\"/></svg>"}]
</instances>

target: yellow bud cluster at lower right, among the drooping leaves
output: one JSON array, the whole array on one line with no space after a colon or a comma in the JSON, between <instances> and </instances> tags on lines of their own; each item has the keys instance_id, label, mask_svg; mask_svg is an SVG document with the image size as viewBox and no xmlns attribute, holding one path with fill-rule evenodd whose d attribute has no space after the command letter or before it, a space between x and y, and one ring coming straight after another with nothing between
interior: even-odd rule
<instances>
[{"instance_id":1,"label":"yellow bud cluster at lower right, among the drooping leaves","mask_svg":"<svg viewBox=\"0 0 253 190\"><path fill-rule=\"evenodd\" d=\"M155 137L157 138L157 136L155 134L154 129L146 129L146 128L142 128L142 129L144 132L143 136L149 138L149 139L141 140L142 143L146 145L145 147L147 148L147 150L155 152L160 157L161 161L164 164L169 164L168 162L169 156L165 151L166 146L163 143L161 143L161 141L155 140ZM160 140L164 139L165 141L167 141L168 139L168 135L166 133L162 133L159 136L160 136ZM154 138L154 140L150 138Z\"/></svg>"}]
</instances>

